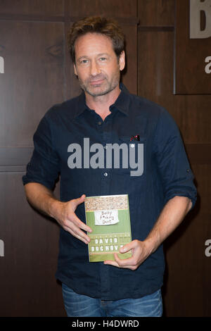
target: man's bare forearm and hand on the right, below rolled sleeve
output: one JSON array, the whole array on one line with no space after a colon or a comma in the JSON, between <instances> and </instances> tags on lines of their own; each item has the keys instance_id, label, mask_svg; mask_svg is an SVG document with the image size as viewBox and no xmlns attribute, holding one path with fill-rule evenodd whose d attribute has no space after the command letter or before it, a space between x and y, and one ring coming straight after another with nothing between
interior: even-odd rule
<instances>
[{"instance_id":1,"label":"man's bare forearm and hand on the right, below rolled sleeve","mask_svg":"<svg viewBox=\"0 0 211 331\"><path fill-rule=\"evenodd\" d=\"M191 209L192 202L186 196L174 196L162 209L160 216L155 223L148 237L142 242L133 240L120 249L120 253L125 253L132 249L132 257L120 259L115 254L115 261L105 261L119 268L129 268L136 270L143 261L148 258L158 246L178 227L188 211Z\"/></svg>"}]
</instances>

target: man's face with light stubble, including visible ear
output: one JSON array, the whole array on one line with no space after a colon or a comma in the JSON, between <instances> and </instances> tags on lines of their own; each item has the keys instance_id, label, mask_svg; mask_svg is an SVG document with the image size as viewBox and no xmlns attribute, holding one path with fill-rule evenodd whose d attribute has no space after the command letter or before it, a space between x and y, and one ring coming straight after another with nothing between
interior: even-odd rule
<instances>
[{"instance_id":1,"label":"man's face with light stubble, including visible ear","mask_svg":"<svg viewBox=\"0 0 211 331\"><path fill-rule=\"evenodd\" d=\"M75 75L84 92L102 96L119 87L124 51L118 59L110 38L87 33L75 42Z\"/></svg>"}]
</instances>

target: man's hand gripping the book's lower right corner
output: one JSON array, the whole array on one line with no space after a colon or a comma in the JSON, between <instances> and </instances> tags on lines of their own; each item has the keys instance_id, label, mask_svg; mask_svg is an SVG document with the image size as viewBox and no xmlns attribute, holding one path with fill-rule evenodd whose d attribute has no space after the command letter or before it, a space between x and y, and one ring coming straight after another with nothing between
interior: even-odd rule
<instances>
[{"instance_id":1,"label":"man's hand gripping the book's lower right corner","mask_svg":"<svg viewBox=\"0 0 211 331\"><path fill-rule=\"evenodd\" d=\"M117 253L115 253L115 261L104 261L104 264L110 264L111 266L118 268L136 270L151 254L148 245L144 241L140 242L140 240L133 240L132 242L129 242L129 244L124 245L120 248L120 254L126 253L130 250L132 250L131 258L121 259L117 256Z\"/></svg>"}]
</instances>

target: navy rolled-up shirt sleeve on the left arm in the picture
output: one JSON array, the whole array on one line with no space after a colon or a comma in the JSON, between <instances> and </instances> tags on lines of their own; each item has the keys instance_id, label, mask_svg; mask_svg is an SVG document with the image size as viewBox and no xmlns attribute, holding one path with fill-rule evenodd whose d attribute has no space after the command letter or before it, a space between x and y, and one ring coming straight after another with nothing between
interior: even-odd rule
<instances>
[{"instance_id":1,"label":"navy rolled-up shirt sleeve on the left arm in the picture","mask_svg":"<svg viewBox=\"0 0 211 331\"><path fill-rule=\"evenodd\" d=\"M41 119L37 131L34 133L34 151L27 164L23 185L28 182L38 182L49 189L53 189L59 174L59 157L53 149L51 127L46 115Z\"/></svg>"}]
</instances>

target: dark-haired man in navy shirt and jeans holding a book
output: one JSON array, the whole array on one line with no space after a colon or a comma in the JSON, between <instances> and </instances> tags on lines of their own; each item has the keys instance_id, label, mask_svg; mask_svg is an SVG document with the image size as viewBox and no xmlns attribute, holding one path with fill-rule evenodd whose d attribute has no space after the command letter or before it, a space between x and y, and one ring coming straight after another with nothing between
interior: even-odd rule
<instances>
[{"instance_id":1,"label":"dark-haired man in navy shirt and jeans holding a book","mask_svg":"<svg viewBox=\"0 0 211 331\"><path fill-rule=\"evenodd\" d=\"M196 202L179 130L164 108L120 84L124 36L116 23L79 20L70 30L70 54L83 93L44 115L23 177L30 203L60 224L56 277L65 309L68 316L162 316L162 242ZM97 157L91 163L96 154L87 152L84 137L105 147L104 166ZM122 154L120 168L106 163L106 144L123 142L136 152L136 170L122 166ZM60 201L52 192L58 174ZM113 194L129 196L132 242L119 254L132 257L89 263L84 197Z\"/></svg>"}]
</instances>

